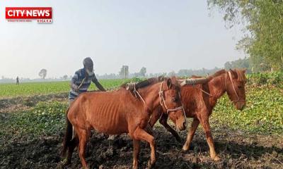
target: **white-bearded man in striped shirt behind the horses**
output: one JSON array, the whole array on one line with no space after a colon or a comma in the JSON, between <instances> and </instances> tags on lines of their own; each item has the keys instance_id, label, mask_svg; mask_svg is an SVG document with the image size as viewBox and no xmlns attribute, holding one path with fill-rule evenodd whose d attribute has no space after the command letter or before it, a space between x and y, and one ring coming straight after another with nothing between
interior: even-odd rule
<instances>
[{"instance_id":1,"label":"white-bearded man in striped shirt behind the horses","mask_svg":"<svg viewBox=\"0 0 283 169\"><path fill-rule=\"evenodd\" d=\"M93 73L93 61L91 58L83 59L83 68L76 71L75 75L71 78L71 90L69 92L69 105L76 99L79 94L88 90L91 82L96 84L96 87L100 91L105 92L106 90L96 79L96 75Z\"/></svg>"}]
</instances>

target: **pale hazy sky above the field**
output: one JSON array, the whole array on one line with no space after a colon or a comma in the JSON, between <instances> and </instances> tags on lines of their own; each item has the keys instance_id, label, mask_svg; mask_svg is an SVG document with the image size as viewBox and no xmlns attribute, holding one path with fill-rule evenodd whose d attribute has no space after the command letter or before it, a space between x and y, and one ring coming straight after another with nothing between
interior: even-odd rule
<instances>
[{"instance_id":1,"label":"pale hazy sky above the field","mask_svg":"<svg viewBox=\"0 0 283 169\"><path fill-rule=\"evenodd\" d=\"M9 23L5 7L52 7L53 23ZM207 1L0 0L0 77L73 75L91 57L95 73L223 68L243 58L243 33L227 30Z\"/></svg>"}]
</instances>

